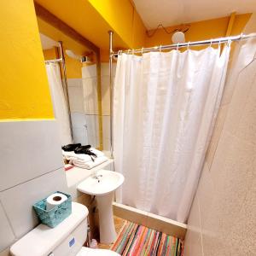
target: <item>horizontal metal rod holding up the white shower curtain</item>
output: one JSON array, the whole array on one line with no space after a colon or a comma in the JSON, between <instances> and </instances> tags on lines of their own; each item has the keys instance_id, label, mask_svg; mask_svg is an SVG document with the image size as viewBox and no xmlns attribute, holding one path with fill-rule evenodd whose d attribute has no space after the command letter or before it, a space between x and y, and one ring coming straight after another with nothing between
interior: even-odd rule
<instances>
[{"instance_id":1,"label":"horizontal metal rod holding up the white shower curtain","mask_svg":"<svg viewBox=\"0 0 256 256\"><path fill-rule=\"evenodd\" d=\"M256 38L256 33L250 34L250 35L238 35L238 36L232 36L232 37L225 37L225 38L215 38L210 40L203 40L203 41L195 41L195 42L188 42L188 43L181 43L181 44L166 44L166 45L160 45L160 46L154 46L154 47L148 47L148 48L141 48L141 49L125 49L125 50L119 50L117 52L112 52L111 56L119 55L119 53L144 53L154 50L162 50L162 49L178 49L183 47L189 47L189 46L198 46L198 45L205 45L205 44L224 44L228 42L233 41L240 41L247 38Z\"/></svg>"}]
</instances>

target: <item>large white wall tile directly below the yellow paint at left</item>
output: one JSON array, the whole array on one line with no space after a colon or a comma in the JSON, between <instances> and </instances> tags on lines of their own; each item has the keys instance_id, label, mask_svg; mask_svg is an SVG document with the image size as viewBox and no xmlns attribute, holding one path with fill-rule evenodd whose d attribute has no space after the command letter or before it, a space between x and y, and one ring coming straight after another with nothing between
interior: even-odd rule
<instances>
[{"instance_id":1,"label":"large white wall tile directly below the yellow paint at left","mask_svg":"<svg viewBox=\"0 0 256 256\"><path fill-rule=\"evenodd\" d=\"M63 166L54 120L0 123L0 191Z\"/></svg>"}]
</instances>

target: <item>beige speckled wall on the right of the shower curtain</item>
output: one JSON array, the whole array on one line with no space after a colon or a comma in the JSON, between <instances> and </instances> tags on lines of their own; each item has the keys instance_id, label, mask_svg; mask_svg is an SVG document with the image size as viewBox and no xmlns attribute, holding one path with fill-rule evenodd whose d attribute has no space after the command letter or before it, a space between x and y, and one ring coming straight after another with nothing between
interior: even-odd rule
<instances>
[{"instance_id":1,"label":"beige speckled wall on the right of the shower curtain","mask_svg":"<svg viewBox=\"0 0 256 256\"><path fill-rule=\"evenodd\" d=\"M255 20L245 33L256 32ZM256 254L256 40L250 54L242 45L236 45L190 210L185 256Z\"/></svg>"}]
</instances>

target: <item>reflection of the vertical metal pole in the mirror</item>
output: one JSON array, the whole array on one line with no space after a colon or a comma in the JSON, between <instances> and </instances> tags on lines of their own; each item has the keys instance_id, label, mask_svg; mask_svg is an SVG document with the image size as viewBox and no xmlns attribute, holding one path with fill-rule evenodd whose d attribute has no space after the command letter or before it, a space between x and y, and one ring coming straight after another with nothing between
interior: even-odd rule
<instances>
[{"instance_id":1,"label":"reflection of the vertical metal pole in the mirror","mask_svg":"<svg viewBox=\"0 0 256 256\"><path fill-rule=\"evenodd\" d=\"M60 51L61 51L61 66L63 69L63 79L62 79L62 84L63 84L63 90L64 90L64 95L66 97L66 102L67 102L67 112L68 112L68 119L69 119L69 127L70 127L70 134L71 134L71 139L73 143L73 128L72 128L72 119L71 119L71 111L70 111L70 102L69 102L69 96L68 96L68 88L67 88L67 69L66 69L66 62L65 62L65 56L63 52L63 46L62 42L58 41L59 46L60 46Z\"/></svg>"}]
</instances>

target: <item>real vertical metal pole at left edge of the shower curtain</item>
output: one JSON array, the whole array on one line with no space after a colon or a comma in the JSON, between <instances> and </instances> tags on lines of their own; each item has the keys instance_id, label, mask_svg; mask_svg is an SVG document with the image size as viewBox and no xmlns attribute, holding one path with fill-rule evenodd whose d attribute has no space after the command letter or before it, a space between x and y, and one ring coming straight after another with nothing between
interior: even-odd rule
<instances>
[{"instance_id":1,"label":"real vertical metal pole at left edge of the shower curtain","mask_svg":"<svg viewBox=\"0 0 256 256\"><path fill-rule=\"evenodd\" d=\"M113 158L113 82L112 82L112 67L113 67L113 31L108 31L109 34L109 90L110 90L110 157Z\"/></svg>"}]
</instances>

